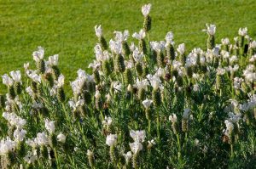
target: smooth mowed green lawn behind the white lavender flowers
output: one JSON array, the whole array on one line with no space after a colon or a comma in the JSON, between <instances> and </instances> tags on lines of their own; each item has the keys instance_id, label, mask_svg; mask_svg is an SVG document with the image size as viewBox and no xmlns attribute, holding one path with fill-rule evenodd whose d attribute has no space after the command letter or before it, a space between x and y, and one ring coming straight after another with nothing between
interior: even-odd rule
<instances>
[{"instance_id":1,"label":"smooth mowed green lawn behind the white lavender flowers","mask_svg":"<svg viewBox=\"0 0 256 169\"><path fill-rule=\"evenodd\" d=\"M32 52L42 46L46 57L59 54L68 83L79 68L89 71L97 42L94 26L102 25L108 41L113 31L139 31L144 3L152 3L150 40L163 40L172 31L176 44L205 48L207 36L201 30L206 23L217 25L217 42L246 26L256 37L255 0L0 0L0 75L23 70L25 62L32 65ZM0 93L3 90L1 84Z\"/></svg>"}]
</instances>

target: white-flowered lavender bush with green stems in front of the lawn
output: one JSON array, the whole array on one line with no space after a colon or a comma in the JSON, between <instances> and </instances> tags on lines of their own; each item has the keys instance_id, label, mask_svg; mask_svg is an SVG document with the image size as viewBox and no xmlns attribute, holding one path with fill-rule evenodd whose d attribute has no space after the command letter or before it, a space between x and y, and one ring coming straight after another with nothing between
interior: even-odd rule
<instances>
[{"instance_id":1,"label":"white-flowered lavender bush with green stems in front of the lawn","mask_svg":"<svg viewBox=\"0 0 256 169\"><path fill-rule=\"evenodd\" d=\"M149 41L151 4L143 29L96 26L92 75L78 70L66 95L58 55L3 75L1 168L253 168L256 166L256 41L247 35L187 51Z\"/></svg>"}]
</instances>

